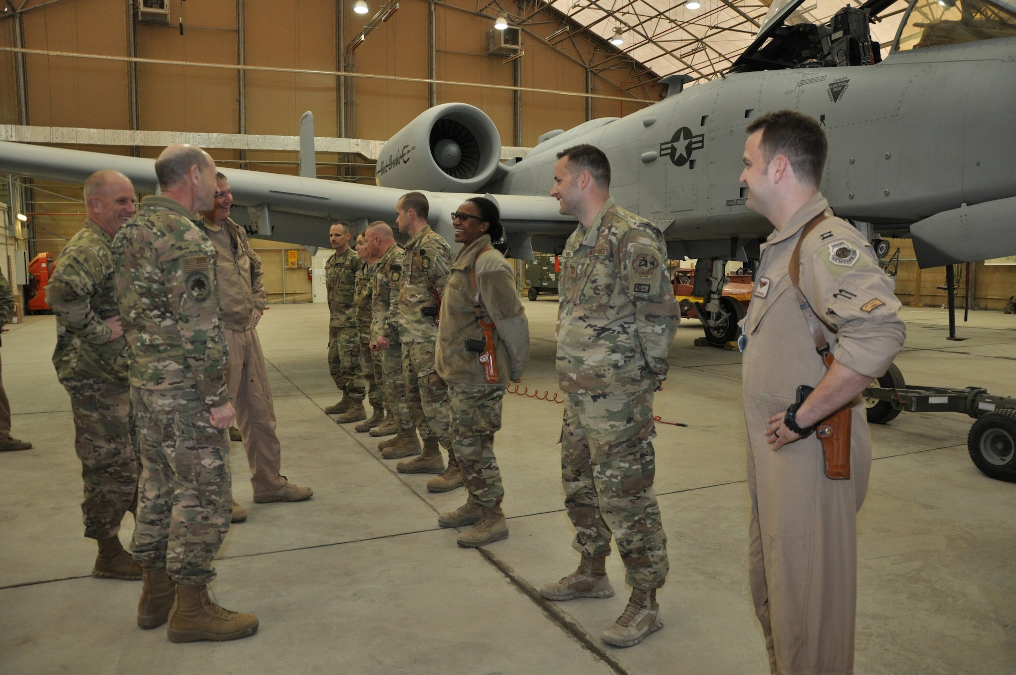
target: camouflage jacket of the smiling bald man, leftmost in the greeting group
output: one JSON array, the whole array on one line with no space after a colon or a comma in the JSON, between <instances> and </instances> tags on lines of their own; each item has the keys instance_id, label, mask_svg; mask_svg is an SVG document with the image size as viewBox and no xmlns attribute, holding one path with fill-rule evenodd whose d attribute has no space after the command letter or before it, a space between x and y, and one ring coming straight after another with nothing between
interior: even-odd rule
<instances>
[{"instance_id":1,"label":"camouflage jacket of the smiling bald man, leftmost in the greeting group","mask_svg":"<svg viewBox=\"0 0 1016 675\"><path fill-rule=\"evenodd\" d=\"M120 314L113 285L113 238L91 221L60 252L46 286L57 317L57 379L94 377L127 384L127 340L110 340L105 319Z\"/></svg>"}]
</instances>

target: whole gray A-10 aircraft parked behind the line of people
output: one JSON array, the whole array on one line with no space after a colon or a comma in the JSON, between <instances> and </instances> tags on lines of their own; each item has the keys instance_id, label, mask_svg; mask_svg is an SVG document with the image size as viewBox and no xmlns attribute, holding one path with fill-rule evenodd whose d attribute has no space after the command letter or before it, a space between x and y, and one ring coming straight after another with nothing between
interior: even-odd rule
<instances>
[{"instance_id":1,"label":"whole gray A-10 aircraft parked behind the line of people","mask_svg":"<svg viewBox=\"0 0 1016 675\"><path fill-rule=\"evenodd\" d=\"M803 0L777 0L755 42L724 77L683 87L624 118L552 131L502 163L497 128L481 110L445 104L384 146L378 186L231 169L234 219L254 236L320 246L327 224L391 222L407 190L431 200L449 241L449 213L491 193L509 255L560 251L574 229L547 196L557 152L577 143L611 161L611 193L654 222L673 257L699 260L707 338L733 339L741 303L721 296L728 260L757 258L771 226L745 208L739 183L745 127L795 109L829 139L822 192L870 239L911 237L922 267L1016 254L1016 6L1010 0L911 0L882 60L870 24L894 0L843 7L827 24L801 22ZM0 143L0 171L83 182L118 169L154 191L152 160Z\"/></svg>"}]
</instances>

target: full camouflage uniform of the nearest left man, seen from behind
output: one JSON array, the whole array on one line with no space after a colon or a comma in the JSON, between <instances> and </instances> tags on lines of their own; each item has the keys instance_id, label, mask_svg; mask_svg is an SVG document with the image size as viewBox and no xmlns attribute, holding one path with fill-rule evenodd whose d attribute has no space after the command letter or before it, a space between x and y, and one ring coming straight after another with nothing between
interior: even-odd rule
<instances>
[{"instance_id":1,"label":"full camouflage uniform of the nearest left man, seen from behind","mask_svg":"<svg viewBox=\"0 0 1016 675\"><path fill-rule=\"evenodd\" d=\"M215 577L230 529L230 441L209 410L230 402L215 248L180 203L141 200L113 240L142 474L132 550L184 586Z\"/></svg>"}]
</instances>

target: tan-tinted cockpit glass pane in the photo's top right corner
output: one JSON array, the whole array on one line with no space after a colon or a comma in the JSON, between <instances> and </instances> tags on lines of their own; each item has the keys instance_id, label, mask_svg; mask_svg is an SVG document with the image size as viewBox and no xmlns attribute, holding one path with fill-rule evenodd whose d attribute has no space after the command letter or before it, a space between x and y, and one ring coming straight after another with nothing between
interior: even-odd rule
<instances>
[{"instance_id":1,"label":"tan-tinted cockpit glass pane in the photo's top right corner","mask_svg":"<svg viewBox=\"0 0 1016 675\"><path fill-rule=\"evenodd\" d=\"M893 51L1016 38L1016 10L988 0L914 0Z\"/></svg>"}]
</instances>

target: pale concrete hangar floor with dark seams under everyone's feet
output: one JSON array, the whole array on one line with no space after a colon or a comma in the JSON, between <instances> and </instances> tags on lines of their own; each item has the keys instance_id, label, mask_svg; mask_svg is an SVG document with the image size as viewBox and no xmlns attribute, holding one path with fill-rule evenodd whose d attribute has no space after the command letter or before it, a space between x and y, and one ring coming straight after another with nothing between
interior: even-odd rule
<instances>
[{"instance_id":1,"label":"pale concrete hangar floor with dark seams under everyone's feet","mask_svg":"<svg viewBox=\"0 0 1016 675\"><path fill-rule=\"evenodd\" d=\"M533 349L524 384L556 389L552 298L525 302ZM1016 320L975 312L962 343L946 314L903 310L908 382L1016 394ZM325 363L327 309L274 305L258 330L269 362L283 472L314 488L294 504L255 504L243 448L234 486L250 517L230 531L213 588L254 612L258 633L173 645L135 624L140 582L88 576L80 465L66 393L50 364L51 316L4 335L14 434L35 448L0 454L0 672L57 673L766 673L748 591L748 490L740 355L693 347L687 321L671 350L656 414L656 490L670 539L665 626L618 650L599 633L629 590L619 556L609 600L547 604L534 589L578 561L563 511L561 407L508 395L496 451L511 536L485 550L437 526L462 490L429 494L429 476L395 473L376 439L336 427ZM961 415L904 413L873 427L875 463L860 517L856 671L885 675L1016 672L1016 485L970 463ZM121 538L130 539L124 520Z\"/></svg>"}]
</instances>

